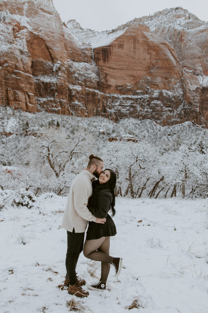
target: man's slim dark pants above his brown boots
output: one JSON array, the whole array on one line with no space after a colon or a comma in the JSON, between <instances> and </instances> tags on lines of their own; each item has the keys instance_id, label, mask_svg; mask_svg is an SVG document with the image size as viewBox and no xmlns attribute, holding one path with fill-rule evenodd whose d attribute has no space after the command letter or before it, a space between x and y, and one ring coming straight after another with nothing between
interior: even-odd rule
<instances>
[{"instance_id":1,"label":"man's slim dark pants above his brown boots","mask_svg":"<svg viewBox=\"0 0 208 313\"><path fill-rule=\"evenodd\" d=\"M83 250L84 238L85 232L75 233L74 228L72 232L67 230L66 276L70 285L74 285L77 281L76 264Z\"/></svg>"}]
</instances>

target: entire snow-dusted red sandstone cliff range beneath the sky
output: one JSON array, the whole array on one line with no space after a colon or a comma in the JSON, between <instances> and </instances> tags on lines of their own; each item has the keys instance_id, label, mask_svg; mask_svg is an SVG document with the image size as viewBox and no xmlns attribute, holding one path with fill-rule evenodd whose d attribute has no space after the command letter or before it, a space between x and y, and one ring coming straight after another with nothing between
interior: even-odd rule
<instances>
[{"instance_id":1,"label":"entire snow-dusted red sandstone cliff range beneath the sky","mask_svg":"<svg viewBox=\"0 0 208 313\"><path fill-rule=\"evenodd\" d=\"M0 104L31 112L207 124L208 27L182 8L106 32L51 0L0 3Z\"/></svg>"}]
</instances>

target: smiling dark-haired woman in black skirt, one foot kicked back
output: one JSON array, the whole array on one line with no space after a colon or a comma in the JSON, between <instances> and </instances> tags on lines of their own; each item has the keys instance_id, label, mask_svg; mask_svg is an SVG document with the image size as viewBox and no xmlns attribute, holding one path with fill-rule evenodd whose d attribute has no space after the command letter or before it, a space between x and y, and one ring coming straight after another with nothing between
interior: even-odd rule
<instances>
[{"instance_id":1,"label":"smiling dark-haired woman in black skirt, one foot kicked back","mask_svg":"<svg viewBox=\"0 0 208 313\"><path fill-rule=\"evenodd\" d=\"M114 265L116 275L121 271L122 258L114 258L109 255L110 236L116 234L116 227L109 216L112 210L115 215L115 193L116 173L105 169L99 179L92 182L92 196L89 198L88 209L97 218L106 218L104 224L89 222L83 254L86 258L101 261L101 278L98 284L88 285L91 290L105 290L110 264Z\"/></svg>"}]
</instances>

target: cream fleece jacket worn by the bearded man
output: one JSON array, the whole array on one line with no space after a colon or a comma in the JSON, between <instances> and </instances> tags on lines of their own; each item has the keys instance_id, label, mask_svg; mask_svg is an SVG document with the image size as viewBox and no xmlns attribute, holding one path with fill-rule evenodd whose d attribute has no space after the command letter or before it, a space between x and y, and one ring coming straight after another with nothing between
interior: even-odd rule
<instances>
[{"instance_id":1,"label":"cream fleece jacket worn by the bearded man","mask_svg":"<svg viewBox=\"0 0 208 313\"><path fill-rule=\"evenodd\" d=\"M95 221L96 217L89 212L87 203L92 195L91 179L93 174L84 170L72 181L66 209L61 224L62 228L75 233L83 233L87 228L87 221Z\"/></svg>"}]
</instances>

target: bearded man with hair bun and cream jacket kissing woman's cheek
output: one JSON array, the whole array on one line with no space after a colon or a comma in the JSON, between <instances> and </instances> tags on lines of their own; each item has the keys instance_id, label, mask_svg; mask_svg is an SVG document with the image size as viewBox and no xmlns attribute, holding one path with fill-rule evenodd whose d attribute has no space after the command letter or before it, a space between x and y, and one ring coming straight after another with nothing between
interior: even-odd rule
<instances>
[{"instance_id":1,"label":"bearded man with hair bun and cream jacket kissing woman's cheek","mask_svg":"<svg viewBox=\"0 0 208 313\"><path fill-rule=\"evenodd\" d=\"M68 293L77 297L87 297L88 291L82 289L85 280L78 280L76 264L83 250L87 221L104 224L106 218L96 218L87 208L89 197L92 195L92 180L99 177L103 171L104 162L93 154L89 156L87 169L78 174L72 181L66 209L61 227L67 230L66 279L64 284L69 286Z\"/></svg>"}]
</instances>

